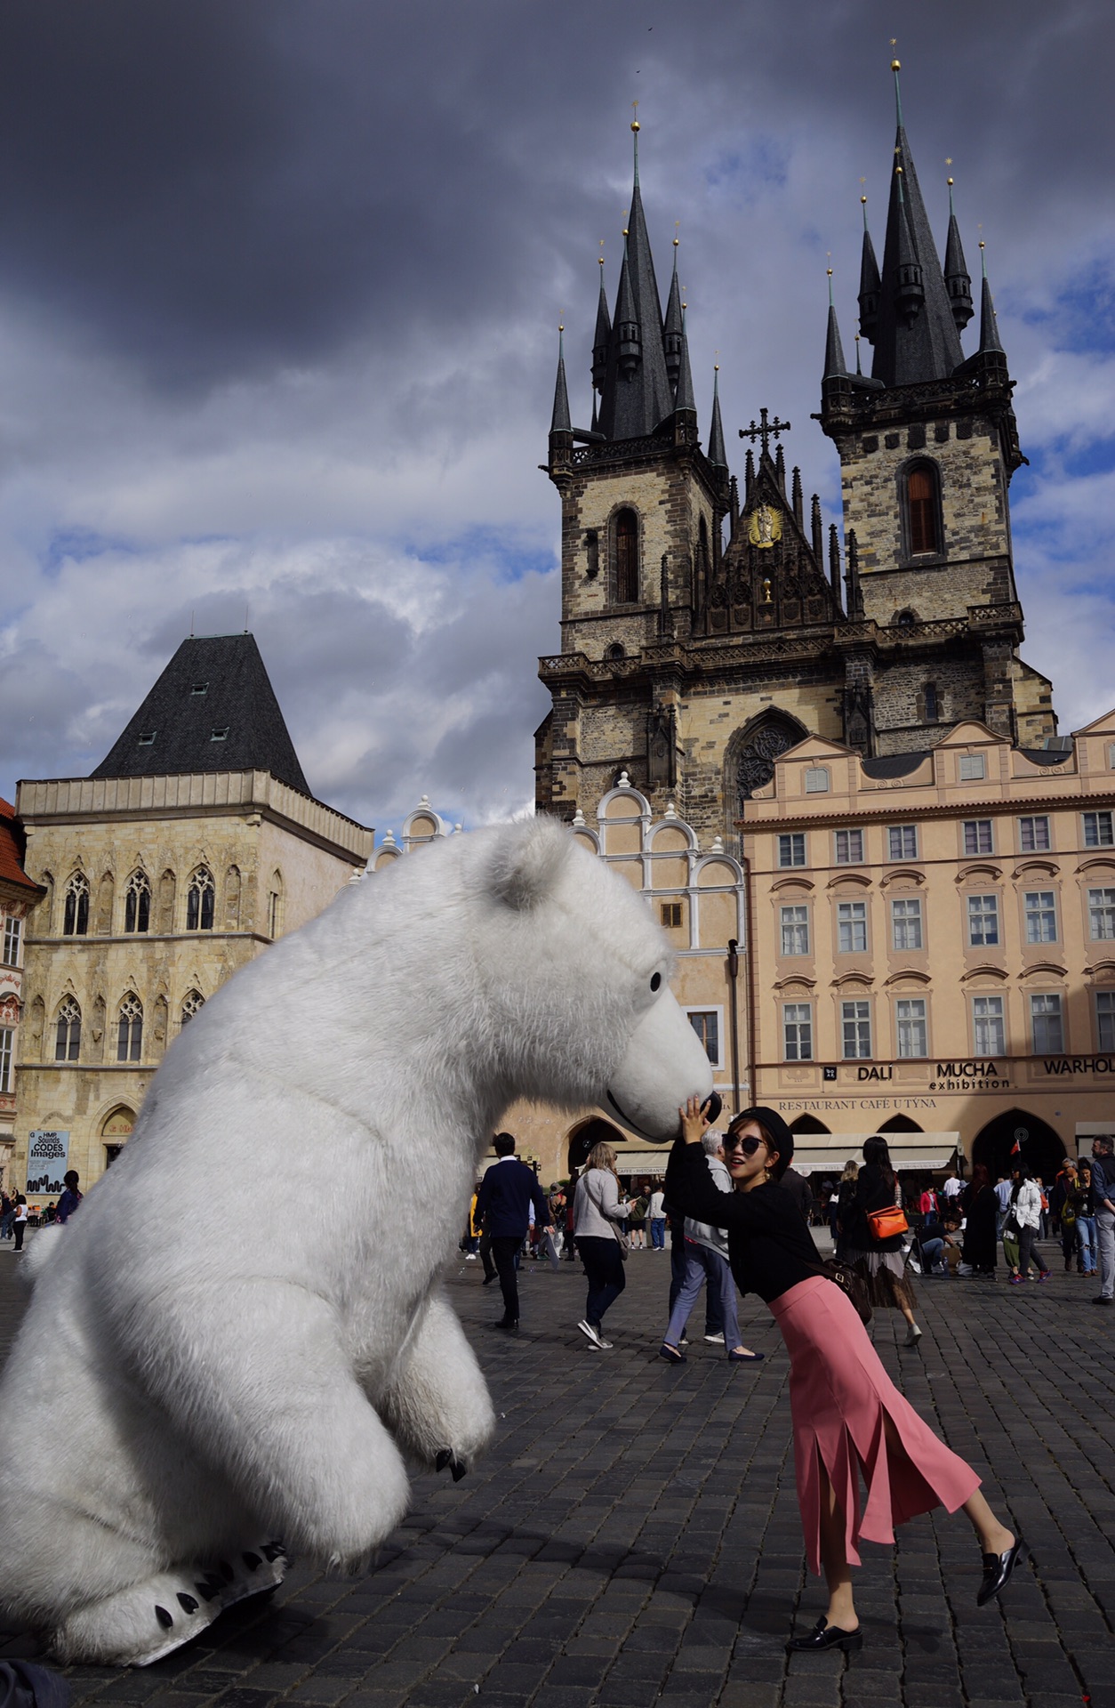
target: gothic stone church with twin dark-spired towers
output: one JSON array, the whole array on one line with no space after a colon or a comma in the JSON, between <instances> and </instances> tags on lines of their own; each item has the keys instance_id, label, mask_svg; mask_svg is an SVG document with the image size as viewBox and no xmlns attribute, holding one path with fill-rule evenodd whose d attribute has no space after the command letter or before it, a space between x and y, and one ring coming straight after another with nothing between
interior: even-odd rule
<instances>
[{"instance_id":1,"label":"gothic stone church with twin dark-spired towers","mask_svg":"<svg viewBox=\"0 0 1115 1708\"><path fill-rule=\"evenodd\" d=\"M743 485L714 391L698 439L674 270L663 316L635 183L615 313L601 272L593 424L572 425L563 350L546 473L562 499L562 651L540 661L553 705L536 734L536 804L591 815L620 772L656 813L736 845L743 803L806 734L902 775L978 719L1013 745L1057 743L1050 683L1019 658L1007 488L1025 461L985 268L972 278L951 212L941 266L902 121L883 266L864 208L861 335L850 372L830 301L821 408L844 526L760 412ZM951 184L951 181L949 181ZM603 261L601 261L603 268ZM830 292L832 295L832 292ZM857 342L859 347L859 342Z\"/></svg>"}]
</instances>

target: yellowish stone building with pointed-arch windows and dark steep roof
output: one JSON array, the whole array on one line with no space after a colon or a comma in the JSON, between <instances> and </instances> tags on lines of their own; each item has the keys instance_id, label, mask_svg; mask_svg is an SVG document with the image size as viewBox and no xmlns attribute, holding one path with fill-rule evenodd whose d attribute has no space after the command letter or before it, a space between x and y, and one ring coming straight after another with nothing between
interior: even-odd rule
<instances>
[{"instance_id":1,"label":"yellowish stone building with pointed-arch windows and dark steep roof","mask_svg":"<svg viewBox=\"0 0 1115 1708\"><path fill-rule=\"evenodd\" d=\"M251 635L183 642L92 777L20 782L17 810L41 900L14 1173L48 1202L65 1167L99 1179L181 1028L319 914L374 839L306 791Z\"/></svg>"}]
</instances>

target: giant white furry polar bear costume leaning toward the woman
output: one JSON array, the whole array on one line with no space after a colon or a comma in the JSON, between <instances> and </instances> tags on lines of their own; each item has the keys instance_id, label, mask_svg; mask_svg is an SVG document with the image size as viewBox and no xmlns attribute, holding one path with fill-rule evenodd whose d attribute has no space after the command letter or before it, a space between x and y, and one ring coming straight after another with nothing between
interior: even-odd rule
<instances>
[{"instance_id":1,"label":"giant white furry polar bear costume leaning toward the woman","mask_svg":"<svg viewBox=\"0 0 1115 1708\"><path fill-rule=\"evenodd\" d=\"M552 820L352 886L174 1044L126 1151L34 1242L0 1383L0 1604L63 1660L149 1662L364 1561L405 1460L492 1436L437 1276L517 1097L651 1139L712 1088L645 902Z\"/></svg>"}]
</instances>

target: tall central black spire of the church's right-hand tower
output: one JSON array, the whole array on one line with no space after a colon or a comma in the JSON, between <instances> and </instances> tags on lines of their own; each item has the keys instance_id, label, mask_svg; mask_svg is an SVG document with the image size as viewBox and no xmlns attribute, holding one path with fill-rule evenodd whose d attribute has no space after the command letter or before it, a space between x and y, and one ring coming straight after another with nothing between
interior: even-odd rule
<instances>
[{"instance_id":1,"label":"tall central black spire of the church's right-hand tower","mask_svg":"<svg viewBox=\"0 0 1115 1708\"><path fill-rule=\"evenodd\" d=\"M953 374L963 350L902 121L898 60L891 70L898 130L871 371L884 386L912 386Z\"/></svg>"}]
</instances>

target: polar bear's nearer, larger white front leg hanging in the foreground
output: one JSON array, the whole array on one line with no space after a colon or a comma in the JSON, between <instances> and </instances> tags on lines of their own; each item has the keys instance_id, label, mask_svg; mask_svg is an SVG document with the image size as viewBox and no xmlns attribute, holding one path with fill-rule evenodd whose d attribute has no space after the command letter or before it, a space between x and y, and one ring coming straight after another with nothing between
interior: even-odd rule
<instances>
[{"instance_id":1,"label":"polar bear's nearer, larger white front leg hanging in the foreground","mask_svg":"<svg viewBox=\"0 0 1115 1708\"><path fill-rule=\"evenodd\" d=\"M406 1512L410 1484L333 1308L278 1281L188 1303L161 1320L149 1377L167 1413L292 1554L357 1568Z\"/></svg>"}]
</instances>

